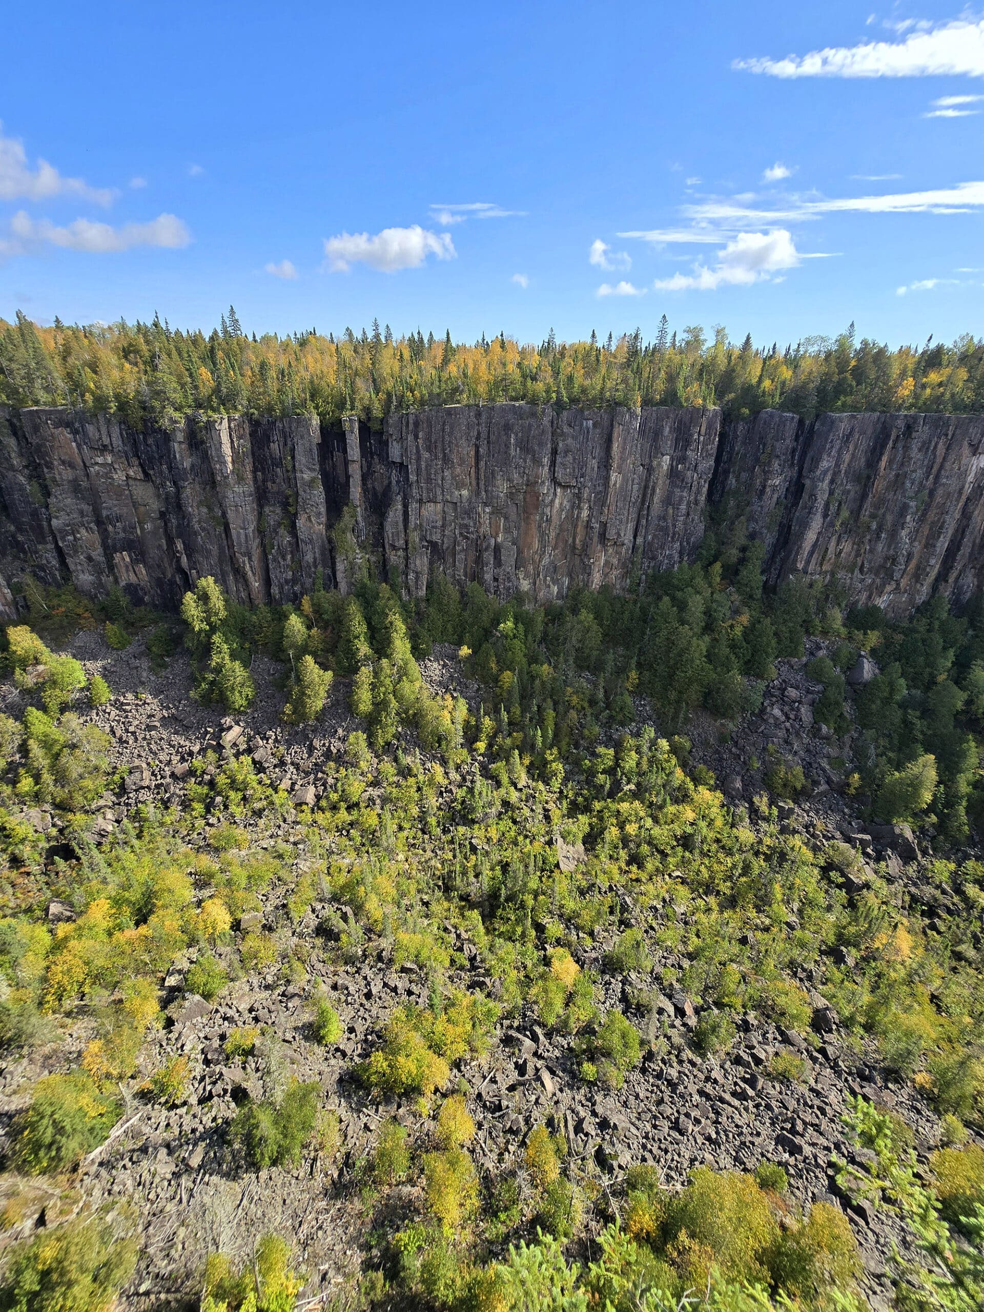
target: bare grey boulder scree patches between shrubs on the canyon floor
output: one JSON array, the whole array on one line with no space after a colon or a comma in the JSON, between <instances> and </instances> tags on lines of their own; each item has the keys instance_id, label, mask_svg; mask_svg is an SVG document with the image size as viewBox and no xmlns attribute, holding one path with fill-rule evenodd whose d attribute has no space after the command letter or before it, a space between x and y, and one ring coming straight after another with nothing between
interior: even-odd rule
<instances>
[{"instance_id":1,"label":"bare grey boulder scree patches between shrubs on the canyon floor","mask_svg":"<svg viewBox=\"0 0 984 1312\"><path fill-rule=\"evenodd\" d=\"M125 775L118 794L108 794L98 807L101 837L138 804L178 806L189 766L207 750L219 758L249 753L273 783L287 790L295 806L311 806L320 792L324 761L337 754L358 727L348 711L342 680L335 681L318 726L293 729L279 719L283 694L276 678L281 666L258 657L252 669L258 691L255 706L241 716L223 718L190 698L192 677L184 656L155 673L140 642L125 652L112 652L101 635L83 632L71 649L88 673L104 674L115 693L108 706L91 712L112 735L113 766ZM830 761L848 744L812 728L811 705L820 689L810 684L803 666L804 661L781 663L779 677L769 686L761 711L749 716L731 741L720 741L710 722L698 722L693 728L694 758L710 765L735 806L744 807L762 789L766 748L774 744L803 765L813 785L804 803L785 807L783 823L815 840L846 838L861 848L867 862L887 862L890 874L901 875L903 859L918 855L911 837L904 830L879 830L874 836L861 832L850 803L832 791L838 773ZM425 661L422 670L432 687L462 690L459 666L450 651ZM474 699L474 689L463 690ZM10 685L0 687L0 710L12 708L17 697ZM642 705L640 711L644 714ZM42 816L56 823L45 812ZM268 824L260 841L289 841L291 832L287 815ZM909 866L913 869L918 866ZM909 883L916 887L916 893L909 895L917 896L918 875L911 875ZM934 890L925 891L939 896ZM367 1218L358 1194L344 1183L349 1168L370 1144L380 1119L392 1114L412 1130L420 1123L411 1103L380 1106L369 1101L352 1071L367 1055L379 1023L396 1004L426 1000L422 976L408 967L394 971L375 959L340 964L319 934L329 905L315 903L299 924L291 925L285 899L283 890L265 895L262 925L281 939L293 935L303 942L307 974L324 985L345 1026L344 1038L331 1048L312 1042L308 989L286 981L278 967L239 980L209 1005L186 998L181 991L193 953L174 963L165 980L168 1023L147 1044L142 1065L151 1072L167 1056L188 1055L190 1096L176 1109L134 1098L112 1140L83 1164L75 1182L93 1203L126 1199L135 1207L142 1252L126 1308L185 1305L194 1296L194 1281L210 1249L245 1254L265 1229L293 1236L298 1262L311 1273L306 1298L315 1302L307 1305L316 1307L319 1296L329 1296L357 1269L365 1240ZM621 928L635 924L649 928L625 899ZM463 941L455 946L466 959L474 956ZM598 960L606 946L596 945ZM681 966L682 959L673 954L657 955L657 972ZM453 981L493 988L493 981L467 968ZM816 988L806 968L799 983L808 991ZM628 1013L635 996L652 981L602 975L601 987L605 1008ZM790 1193L798 1203L830 1200L836 1194L830 1158L851 1156L840 1119L849 1093L863 1093L903 1115L916 1132L921 1155L935 1147L938 1124L925 1103L909 1089L892 1084L871 1054L845 1042L832 1013L824 1013L823 998L815 1001L815 1027L823 1040L819 1047L808 1046L795 1033L747 1019L739 1042L724 1057L705 1060L687 1043L697 1025L691 1001L678 992L656 993L648 1015L634 1014L647 1031L649 1048L618 1093L585 1085L569 1046L535 1025L517 1023L484 1057L461 1069L462 1088L467 1088L479 1126L476 1160L491 1170L516 1165L525 1131L546 1122L564 1132L571 1155L584 1170L601 1178L628 1164L652 1162L668 1183L680 1183L703 1162L718 1169L750 1169L773 1160L786 1166ZM241 1026L266 1027L270 1038L262 1040L256 1055L230 1060L224 1042ZM77 1061L89 1036L91 1027L81 1019L70 1025L58 1042L0 1065L3 1120L9 1124L10 1115L25 1105L26 1090L39 1073ZM766 1078L764 1068L782 1050L806 1060L802 1084ZM315 1156L297 1170L244 1172L230 1155L226 1127L247 1093L269 1092L272 1082L287 1072L319 1081L327 1106L338 1114L340 1151ZM37 1208L29 1210L22 1228L37 1216ZM891 1224L884 1214L874 1214L865 1204L851 1206L850 1218L863 1254L866 1292L872 1305L887 1305L884 1257Z\"/></svg>"}]
</instances>

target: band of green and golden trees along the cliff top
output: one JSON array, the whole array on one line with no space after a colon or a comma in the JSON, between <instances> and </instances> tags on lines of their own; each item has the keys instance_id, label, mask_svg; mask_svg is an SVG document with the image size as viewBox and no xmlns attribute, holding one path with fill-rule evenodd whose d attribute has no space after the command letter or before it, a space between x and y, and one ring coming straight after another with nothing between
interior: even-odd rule
<instances>
[{"instance_id":1,"label":"band of green and golden trees along the cliff top","mask_svg":"<svg viewBox=\"0 0 984 1312\"><path fill-rule=\"evenodd\" d=\"M475 344L394 337L345 329L337 340L310 331L258 337L243 331L232 307L210 333L152 323L42 328L17 312L0 319L0 401L76 405L121 415L134 426L163 424L190 411L287 416L331 422L356 413L380 421L425 405L529 401L541 405L720 405L745 417L782 409L984 411L984 340L929 341L892 350L857 341L854 325L779 349L750 335L739 345L724 328L670 332L664 315L655 340L636 329L605 342L539 346L505 333Z\"/></svg>"}]
</instances>

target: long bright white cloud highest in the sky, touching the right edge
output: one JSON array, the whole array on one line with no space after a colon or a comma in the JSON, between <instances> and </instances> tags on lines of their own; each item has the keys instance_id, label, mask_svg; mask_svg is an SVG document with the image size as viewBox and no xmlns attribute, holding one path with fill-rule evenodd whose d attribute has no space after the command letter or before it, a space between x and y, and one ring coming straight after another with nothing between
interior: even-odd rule
<instances>
[{"instance_id":1,"label":"long bright white cloud highest in the sky, touching the right edge","mask_svg":"<svg viewBox=\"0 0 984 1312\"><path fill-rule=\"evenodd\" d=\"M785 59L736 59L732 68L770 77L984 77L984 20L917 28L904 41L828 46Z\"/></svg>"}]
</instances>

